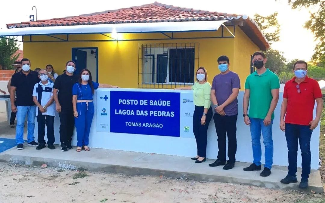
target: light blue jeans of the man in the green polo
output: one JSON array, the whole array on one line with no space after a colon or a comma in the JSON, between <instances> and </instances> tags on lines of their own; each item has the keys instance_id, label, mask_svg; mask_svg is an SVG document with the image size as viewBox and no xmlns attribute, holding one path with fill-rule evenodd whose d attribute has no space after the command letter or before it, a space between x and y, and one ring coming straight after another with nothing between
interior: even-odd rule
<instances>
[{"instance_id":1,"label":"light blue jeans of the man in the green polo","mask_svg":"<svg viewBox=\"0 0 325 203\"><path fill-rule=\"evenodd\" d=\"M264 167L271 169L273 164L273 140L272 140L272 124L273 120L268 126L265 126L263 119L249 118L251 121L251 135L253 148L253 163L256 166L261 165L261 132L263 135L263 143L265 146L265 165Z\"/></svg>"}]
</instances>

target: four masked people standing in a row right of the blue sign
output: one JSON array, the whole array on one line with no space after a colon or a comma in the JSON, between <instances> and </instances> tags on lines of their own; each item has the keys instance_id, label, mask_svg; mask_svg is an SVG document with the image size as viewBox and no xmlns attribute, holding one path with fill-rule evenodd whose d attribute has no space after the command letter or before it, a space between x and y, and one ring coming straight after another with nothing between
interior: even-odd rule
<instances>
[{"instance_id":1,"label":"four masked people standing in a row right of the blue sign","mask_svg":"<svg viewBox=\"0 0 325 203\"><path fill-rule=\"evenodd\" d=\"M271 70L265 68L267 61L264 52L253 54L256 71L246 78L243 97L243 120L250 126L253 163L244 171L261 170L261 134L265 146L264 170L260 173L266 177L271 174L273 164L272 125L274 110L279 100L279 78ZM196 72L193 86L176 89L193 90L193 133L197 143L197 156L191 159L195 163L206 160L207 130L213 117L218 137L217 159L209 164L211 167L223 166L224 170L235 167L237 139L236 123L238 117L238 94L240 78L237 73L229 70L230 61L227 56L217 59L220 74L213 79L212 86L207 82L208 74L200 67ZM310 138L317 127L323 107L322 94L318 82L307 76L307 63L298 60L293 65L293 77L284 86L283 102L280 112L280 129L285 132L288 146L288 174L280 182L296 183L298 140L302 156L302 175L300 188L308 187L310 174ZM316 117L313 109L317 103ZM211 104L214 109L211 108ZM248 107L249 111L248 111ZM213 115L214 111L214 115ZM226 135L228 137L228 160L226 161Z\"/></svg>"}]
</instances>

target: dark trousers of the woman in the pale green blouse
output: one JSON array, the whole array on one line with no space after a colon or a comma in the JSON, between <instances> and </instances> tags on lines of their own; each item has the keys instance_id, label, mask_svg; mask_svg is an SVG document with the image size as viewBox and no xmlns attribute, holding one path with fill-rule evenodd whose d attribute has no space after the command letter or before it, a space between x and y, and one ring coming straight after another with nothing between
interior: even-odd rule
<instances>
[{"instance_id":1,"label":"dark trousers of the woman in the pale green blouse","mask_svg":"<svg viewBox=\"0 0 325 203\"><path fill-rule=\"evenodd\" d=\"M208 136L206 133L212 119L212 108L210 107L208 113L206 114L205 125L201 125L203 111L204 107L195 106L193 113L193 133L196 140L198 155L200 157L206 156L206 143L208 141Z\"/></svg>"}]
</instances>

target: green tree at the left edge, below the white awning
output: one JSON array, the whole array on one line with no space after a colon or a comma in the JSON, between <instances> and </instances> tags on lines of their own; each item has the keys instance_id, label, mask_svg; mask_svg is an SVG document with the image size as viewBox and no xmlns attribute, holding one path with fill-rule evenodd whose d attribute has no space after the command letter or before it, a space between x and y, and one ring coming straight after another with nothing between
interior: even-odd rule
<instances>
[{"instance_id":1,"label":"green tree at the left edge, below the white awning","mask_svg":"<svg viewBox=\"0 0 325 203\"><path fill-rule=\"evenodd\" d=\"M11 64L14 64L19 57L19 54L15 55L18 49L14 37L10 39L0 38L0 66L2 66L2 70L13 69Z\"/></svg>"}]
</instances>

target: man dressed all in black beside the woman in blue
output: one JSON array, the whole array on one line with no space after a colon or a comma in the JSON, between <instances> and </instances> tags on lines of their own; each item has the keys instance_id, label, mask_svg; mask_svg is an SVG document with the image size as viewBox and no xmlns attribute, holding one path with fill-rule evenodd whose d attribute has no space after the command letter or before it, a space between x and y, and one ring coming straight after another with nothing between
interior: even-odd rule
<instances>
[{"instance_id":1,"label":"man dressed all in black beside the woman in blue","mask_svg":"<svg viewBox=\"0 0 325 203\"><path fill-rule=\"evenodd\" d=\"M53 97L56 110L60 117L60 141L61 151L72 149L71 140L74 127L74 116L72 106L72 86L78 81L78 76L73 75L75 71L74 61L66 63L66 72L59 75L54 82Z\"/></svg>"}]
</instances>

